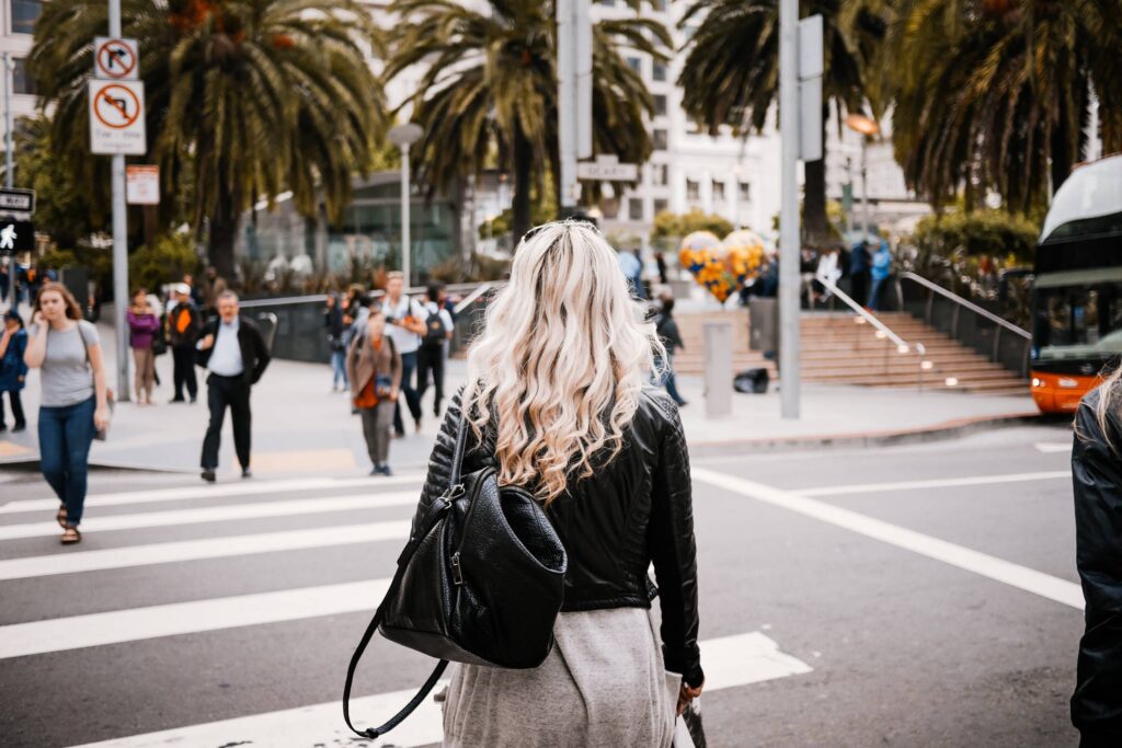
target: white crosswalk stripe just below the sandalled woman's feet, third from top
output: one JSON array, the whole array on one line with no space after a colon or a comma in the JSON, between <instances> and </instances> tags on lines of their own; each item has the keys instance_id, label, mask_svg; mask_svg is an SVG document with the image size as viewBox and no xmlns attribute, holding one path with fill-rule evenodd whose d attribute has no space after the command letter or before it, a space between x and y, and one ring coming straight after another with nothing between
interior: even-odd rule
<instances>
[{"instance_id":1,"label":"white crosswalk stripe just below the sandalled woman's feet, third from top","mask_svg":"<svg viewBox=\"0 0 1122 748\"><path fill-rule=\"evenodd\" d=\"M50 574L76 574L126 566L148 566L180 561L228 558L278 551L334 547L376 541L404 541L408 537L410 524L406 520L368 523L9 558L0 561L0 581L48 576Z\"/></svg>"}]
</instances>

